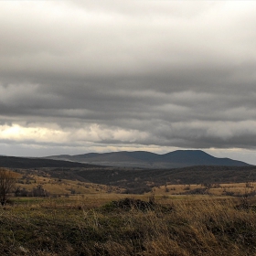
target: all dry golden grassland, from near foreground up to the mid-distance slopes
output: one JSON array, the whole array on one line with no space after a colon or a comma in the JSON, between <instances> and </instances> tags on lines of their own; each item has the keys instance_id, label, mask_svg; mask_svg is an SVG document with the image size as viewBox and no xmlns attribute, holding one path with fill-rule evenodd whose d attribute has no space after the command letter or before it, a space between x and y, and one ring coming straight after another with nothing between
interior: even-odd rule
<instances>
[{"instance_id":1,"label":"all dry golden grassland, from near foreground up to the mid-distance slopes","mask_svg":"<svg viewBox=\"0 0 256 256\"><path fill-rule=\"evenodd\" d=\"M45 169L19 174L0 208L0 255L256 255L253 182L146 182L139 195Z\"/></svg>"}]
</instances>

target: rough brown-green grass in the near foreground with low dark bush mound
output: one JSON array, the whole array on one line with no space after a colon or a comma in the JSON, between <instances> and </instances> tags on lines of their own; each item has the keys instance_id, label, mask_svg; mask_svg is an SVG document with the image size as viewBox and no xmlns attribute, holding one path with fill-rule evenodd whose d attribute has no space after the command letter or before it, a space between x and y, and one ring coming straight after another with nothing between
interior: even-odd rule
<instances>
[{"instance_id":1,"label":"rough brown-green grass in the near foreground with low dark bush mound","mask_svg":"<svg viewBox=\"0 0 256 256\"><path fill-rule=\"evenodd\" d=\"M252 202L87 200L0 208L0 255L256 255Z\"/></svg>"}]
</instances>

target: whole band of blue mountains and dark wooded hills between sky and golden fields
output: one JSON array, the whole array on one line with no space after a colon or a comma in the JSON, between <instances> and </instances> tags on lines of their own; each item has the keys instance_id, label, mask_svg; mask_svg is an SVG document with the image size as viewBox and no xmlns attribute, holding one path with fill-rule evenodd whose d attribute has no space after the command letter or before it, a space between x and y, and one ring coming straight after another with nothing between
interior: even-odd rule
<instances>
[{"instance_id":1,"label":"whole band of blue mountains and dark wooded hills between sky and golden fields","mask_svg":"<svg viewBox=\"0 0 256 256\"><path fill-rule=\"evenodd\" d=\"M256 166L229 158L217 158L198 150L175 151L165 155L149 152L113 152L50 157L59 160L0 156L0 166L28 175L37 172L58 180L120 187L126 189L127 193L148 192L152 187L166 183L214 184L256 180ZM97 165L91 165L92 163ZM108 167L106 164L112 166ZM144 168L133 167L136 165Z\"/></svg>"}]
</instances>

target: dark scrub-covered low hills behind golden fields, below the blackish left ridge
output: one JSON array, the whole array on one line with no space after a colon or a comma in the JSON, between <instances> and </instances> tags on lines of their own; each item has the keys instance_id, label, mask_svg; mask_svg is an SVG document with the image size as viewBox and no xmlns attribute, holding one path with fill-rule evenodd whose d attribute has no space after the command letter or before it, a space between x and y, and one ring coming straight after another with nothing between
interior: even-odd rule
<instances>
[{"instance_id":1,"label":"dark scrub-covered low hills behind golden fields, below the blackish left ridge","mask_svg":"<svg viewBox=\"0 0 256 256\"><path fill-rule=\"evenodd\" d=\"M41 167L13 168L23 176L42 176L56 180L119 187L126 194L144 194L153 187L187 184L207 186L223 183L246 183L256 180L255 166L193 166L178 169L139 169L123 167ZM24 179L24 182L27 182ZM33 178L30 179L33 183Z\"/></svg>"}]
</instances>

